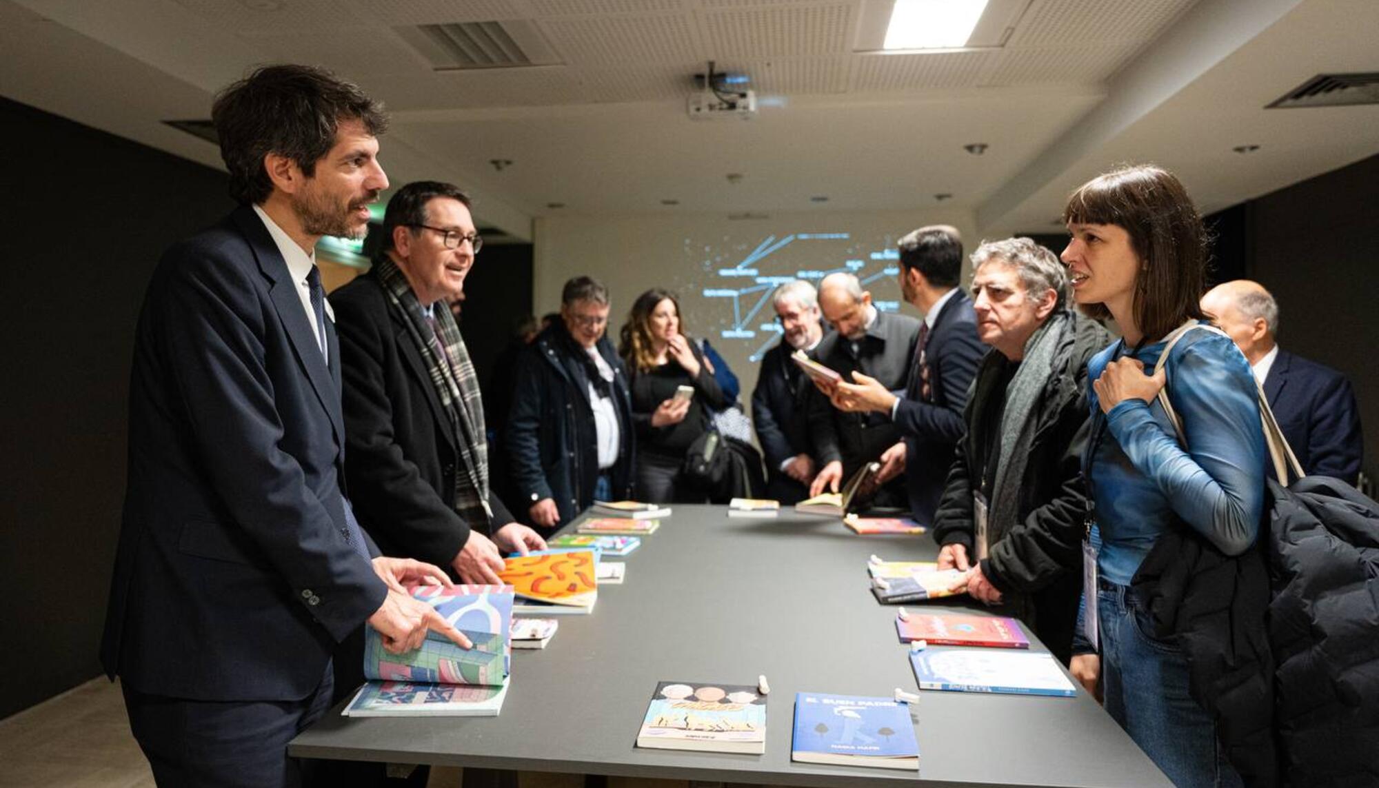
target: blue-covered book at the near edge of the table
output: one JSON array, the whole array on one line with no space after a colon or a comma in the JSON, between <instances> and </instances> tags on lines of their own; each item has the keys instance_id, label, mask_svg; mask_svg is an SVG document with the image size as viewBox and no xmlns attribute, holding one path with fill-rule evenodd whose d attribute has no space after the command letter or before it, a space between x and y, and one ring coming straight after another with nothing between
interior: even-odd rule
<instances>
[{"instance_id":1,"label":"blue-covered book at the near edge of the table","mask_svg":"<svg viewBox=\"0 0 1379 788\"><path fill-rule=\"evenodd\" d=\"M888 697L796 693L790 760L914 771L920 745L910 707Z\"/></svg>"}]
</instances>

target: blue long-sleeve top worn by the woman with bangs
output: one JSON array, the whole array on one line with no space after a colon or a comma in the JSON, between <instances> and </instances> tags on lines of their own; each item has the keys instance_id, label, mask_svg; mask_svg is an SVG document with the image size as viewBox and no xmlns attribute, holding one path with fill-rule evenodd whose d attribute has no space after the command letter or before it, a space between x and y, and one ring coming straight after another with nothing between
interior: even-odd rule
<instances>
[{"instance_id":1,"label":"blue long-sleeve top worn by the woman with bangs","mask_svg":"<svg viewBox=\"0 0 1379 788\"><path fill-rule=\"evenodd\" d=\"M1164 344L1134 353L1146 375ZM1124 342L1098 353L1088 362L1089 380L1124 354ZM1125 400L1103 419L1088 384L1094 427L1083 464L1102 535L1096 565L1102 577L1121 585L1175 519L1227 555L1248 550L1259 533L1267 448L1249 362L1229 338L1194 329L1164 369L1186 450L1157 400Z\"/></svg>"}]
</instances>

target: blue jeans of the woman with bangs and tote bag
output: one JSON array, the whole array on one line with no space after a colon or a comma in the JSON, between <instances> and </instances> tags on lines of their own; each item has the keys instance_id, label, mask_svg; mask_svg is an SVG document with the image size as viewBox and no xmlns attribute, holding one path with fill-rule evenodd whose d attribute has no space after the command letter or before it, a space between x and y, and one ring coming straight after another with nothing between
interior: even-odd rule
<instances>
[{"instance_id":1,"label":"blue jeans of the woman with bangs and tote bag","mask_svg":"<svg viewBox=\"0 0 1379 788\"><path fill-rule=\"evenodd\" d=\"M1100 580L1102 694L1106 712L1179 788L1237 788L1211 715L1187 692L1187 660L1153 636L1127 585Z\"/></svg>"}]
</instances>

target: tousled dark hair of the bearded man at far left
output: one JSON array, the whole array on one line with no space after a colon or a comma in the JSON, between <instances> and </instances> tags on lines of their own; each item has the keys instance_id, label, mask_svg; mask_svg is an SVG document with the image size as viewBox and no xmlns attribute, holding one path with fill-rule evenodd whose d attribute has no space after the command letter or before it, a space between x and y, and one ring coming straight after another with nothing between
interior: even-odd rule
<instances>
[{"instance_id":1,"label":"tousled dark hair of the bearded man at far left","mask_svg":"<svg viewBox=\"0 0 1379 788\"><path fill-rule=\"evenodd\" d=\"M335 146L341 121L359 120L374 136L387 131L383 105L357 85L316 66L262 66L226 85L211 106L230 197L262 203L273 193L263 168L269 153L285 156L310 178Z\"/></svg>"}]
</instances>

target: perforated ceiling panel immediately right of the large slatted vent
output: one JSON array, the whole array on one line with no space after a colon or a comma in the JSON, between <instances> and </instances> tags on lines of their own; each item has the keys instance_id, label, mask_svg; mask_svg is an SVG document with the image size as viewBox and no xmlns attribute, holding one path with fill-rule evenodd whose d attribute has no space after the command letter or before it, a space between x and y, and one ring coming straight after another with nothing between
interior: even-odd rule
<instances>
[{"instance_id":1,"label":"perforated ceiling panel immediately right of the large slatted vent","mask_svg":"<svg viewBox=\"0 0 1379 788\"><path fill-rule=\"evenodd\" d=\"M542 19L546 39L570 65L692 63L699 34L690 14Z\"/></svg>"}]
</instances>

